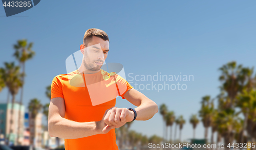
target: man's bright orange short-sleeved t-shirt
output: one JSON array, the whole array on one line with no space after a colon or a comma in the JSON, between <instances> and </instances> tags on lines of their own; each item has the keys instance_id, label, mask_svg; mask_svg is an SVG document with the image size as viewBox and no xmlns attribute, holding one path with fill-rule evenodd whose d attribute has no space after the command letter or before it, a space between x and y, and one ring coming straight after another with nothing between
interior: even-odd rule
<instances>
[{"instance_id":1,"label":"man's bright orange short-sleeved t-shirt","mask_svg":"<svg viewBox=\"0 0 256 150\"><path fill-rule=\"evenodd\" d=\"M93 74L78 70L54 77L51 85L51 99L65 100L65 118L77 122L100 121L105 110L116 105L116 97L133 87L115 72L102 69ZM65 132L65 131L63 131ZM65 139L66 150L118 149L115 130L77 139Z\"/></svg>"}]
</instances>

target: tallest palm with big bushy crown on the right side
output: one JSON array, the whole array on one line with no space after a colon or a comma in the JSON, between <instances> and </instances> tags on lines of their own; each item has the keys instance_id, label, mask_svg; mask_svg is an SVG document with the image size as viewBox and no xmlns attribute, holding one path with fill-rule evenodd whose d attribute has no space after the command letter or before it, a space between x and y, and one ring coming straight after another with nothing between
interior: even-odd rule
<instances>
[{"instance_id":1,"label":"tallest palm with big bushy crown on the right side","mask_svg":"<svg viewBox=\"0 0 256 150\"><path fill-rule=\"evenodd\" d=\"M249 126L247 123L250 123L248 120L249 115L249 108L243 107L242 103L239 102L241 99L237 99L237 95L239 93L243 93L245 90L250 91L252 88L255 88L255 78L252 77L253 75L253 67L242 67L242 65L236 64L236 62L229 62L223 67L220 68L222 71L222 75L220 77L220 81L223 82L222 89L227 93L228 98L226 98L225 108L226 109L234 109L234 106L238 106L241 108L241 111L244 114L244 121L241 133L239 134L239 140L243 141L244 138L244 130ZM239 104L237 104L239 103ZM250 130L251 128L249 128ZM248 134L250 136L250 134Z\"/></svg>"}]
</instances>

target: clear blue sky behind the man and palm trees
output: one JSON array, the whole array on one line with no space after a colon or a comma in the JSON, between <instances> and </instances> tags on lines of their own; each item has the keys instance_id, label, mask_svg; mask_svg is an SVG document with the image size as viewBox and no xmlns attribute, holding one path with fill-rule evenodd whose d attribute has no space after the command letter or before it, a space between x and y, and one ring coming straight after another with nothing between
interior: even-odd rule
<instances>
[{"instance_id":1,"label":"clear blue sky behind the man and palm trees","mask_svg":"<svg viewBox=\"0 0 256 150\"><path fill-rule=\"evenodd\" d=\"M184 116L182 139L186 140L193 135L188 119L198 113L202 96L215 97L219 93L218 68L233 60L255 66L255 7L256 1L236 0L161 3L56 0L41 1L34 8L10 17L0 7L0 66L14 61L12 45L18 39L34 42L36 56L26 64L24 103L27 105L34 97L43 104L49 103L45 88L55 76L66 73L65 61L79 50L84 32L90 28L104 30L110 38L106 62L121 63L127 80L129 73L194 76L194 81L180 82L187 85L186 90L139 90L159 106L165 103L176 115ZM6 98L5 89L0 93L0 101L5 102ZM133 107L120 97L116 106ZM161 136L162 123L158 113L151 120L135 121L131 128ZM200 123L196 137L203 136Z\"/></svg>"}]
</instances>

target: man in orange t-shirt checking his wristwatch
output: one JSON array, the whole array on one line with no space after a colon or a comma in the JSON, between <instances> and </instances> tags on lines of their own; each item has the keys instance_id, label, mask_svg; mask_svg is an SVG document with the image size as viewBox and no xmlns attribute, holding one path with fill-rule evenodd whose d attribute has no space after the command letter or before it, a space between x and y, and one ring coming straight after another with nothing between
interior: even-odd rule
<instances>
[{"instance_id":1,"label":"man in orange t-shirt checking his wristwatch","mask_svg":"<svg viewBox=\"0 0 256 150\"><path fill-rule=\"evenodd\" d=\"M115 72L101 69L109 53L104 31L87 30L80 51L80 67L52 81L49 135L64 138L66 150L118 149L115 128L134 119L148 120L158 107ZM118 95L137 108L116 108Z\"/></svg>"}]
</instances>

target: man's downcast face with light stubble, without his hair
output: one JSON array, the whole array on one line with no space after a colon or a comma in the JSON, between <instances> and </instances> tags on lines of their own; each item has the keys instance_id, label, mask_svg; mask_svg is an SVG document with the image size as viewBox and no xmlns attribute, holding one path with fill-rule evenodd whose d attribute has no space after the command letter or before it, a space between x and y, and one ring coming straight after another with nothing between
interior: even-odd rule
<instances>
[{"instance_id":1,"label":"man's downcast face with light stubble, without his hair","mask_svg":"<svg viewBox=\"0 0 256 150\"><path fill-rule=\"evenodd\" d=\"M87 70L97 71L103 65L109 52L109 41L93 36L84 48L83 65Z\"/></svg>"}]
</instances>

